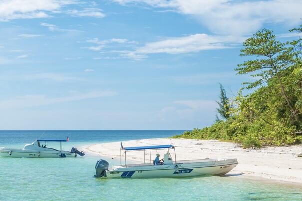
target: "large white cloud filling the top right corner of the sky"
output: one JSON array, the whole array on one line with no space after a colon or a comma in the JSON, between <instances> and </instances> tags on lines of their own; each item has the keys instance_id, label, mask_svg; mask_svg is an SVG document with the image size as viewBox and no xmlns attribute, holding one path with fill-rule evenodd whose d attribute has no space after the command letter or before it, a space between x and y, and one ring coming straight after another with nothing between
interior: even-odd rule
<instances>
[{"instance_id":1,"label":"large white cloud filling the top right corner of the sky","mask_svg":"<svg viewBox=\"0 0 302 201\"><path fill-rule=\"evenodd\" d=\"M212 32L244 35L265 23L295 26L301 22L302 0L113 0L120 4L145 3L193 16Z\"/></svg>"}]
</instances>

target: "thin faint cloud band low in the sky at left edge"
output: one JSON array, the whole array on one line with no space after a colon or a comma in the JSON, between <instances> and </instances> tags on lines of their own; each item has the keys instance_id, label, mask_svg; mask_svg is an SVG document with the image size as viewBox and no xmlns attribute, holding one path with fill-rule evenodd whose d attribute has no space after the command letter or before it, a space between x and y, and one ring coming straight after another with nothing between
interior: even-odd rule
<instances>
[{"instance_id":1,"label":"thin faint cloud band low in the sky at left edge","mask_svg":"<svg viewBox=\"0 0 302 201\"><path fill-rule=\"evenodd\" d=\"M42 105L50 105L56 103L64 103L92 98L100 98L106 96L117 95L115 91L92 91L88 93L75 93L69 96L50 98L45 95L25 95L17 96L9 100L0 100L0 108L25 108L36 107Z\"/></svg>"}]
</instances>

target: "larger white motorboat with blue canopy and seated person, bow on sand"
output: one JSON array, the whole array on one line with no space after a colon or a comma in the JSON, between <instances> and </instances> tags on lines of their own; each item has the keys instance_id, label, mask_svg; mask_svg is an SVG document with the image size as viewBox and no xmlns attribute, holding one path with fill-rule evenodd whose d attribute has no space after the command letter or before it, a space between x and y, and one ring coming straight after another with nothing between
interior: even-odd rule
<instances>
[{"instance_id":1,"label":"larger white motorboat with blue canopy and seated person, bow on sand","mask_svg":"<svg viewBox=\"0 0 302 201\"><path fill-rule=\"evenodd\" d=\"M161 165L151 162L151 150L167 149ZM174 150L174 161L169 150ZM150 152L150 163L127 164L126 152L144 150ZM125 153L125 164L122 165L122 151ZM177 161L175 146L157 145L143 147L122 147L121 165L109 167L109 163L103 159L98 160L95 169L95 177L105 178L148 178L148 177L190 177L200 175L224 175L231 171L237 164L237 159L200 159Z\"/></svg>"}]
</instances>

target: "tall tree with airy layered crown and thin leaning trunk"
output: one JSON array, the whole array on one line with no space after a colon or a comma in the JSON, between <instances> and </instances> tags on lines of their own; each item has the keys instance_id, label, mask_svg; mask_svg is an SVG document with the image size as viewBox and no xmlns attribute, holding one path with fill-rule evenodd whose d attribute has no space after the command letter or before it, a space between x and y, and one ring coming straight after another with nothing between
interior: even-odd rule
<instances>
[{"instance_id":1,"label":"tall tree with airy layered crown and thin leaning trunk","mask_svg":"<svg viewBox=\"0 0 302 201\"><path fill-rule=\"evenodd\" d=\"M277 79L280 93L291 111L290 118L298 121L291 92L287 91L284 77L289 75L297 63L297 50L289 43L276 40L271 30L263 29L253 34L244 43L241 56L256 56L238 65L237 74L250 74L257 78L255 82L247 82L247 88L267 84L271 79Z\"/></svg>"}]
</instances>

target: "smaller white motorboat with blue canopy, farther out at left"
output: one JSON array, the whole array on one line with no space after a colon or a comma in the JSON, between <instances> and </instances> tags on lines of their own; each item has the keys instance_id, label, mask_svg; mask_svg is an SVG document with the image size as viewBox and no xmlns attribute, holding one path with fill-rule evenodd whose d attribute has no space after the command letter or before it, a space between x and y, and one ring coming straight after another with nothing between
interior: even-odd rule
<instances>
[{"instance_id":1,"label":"smaller white motorboat with blue canopy, farther out at left","mask_svg":"<svg viewBox=\"0 0 302 201\"><path fill-rule=\"evenodd\" d=\"M2 157L26 157L26 158L65 158L76 157L77 155L84 156L84 152L78 151L76 148L72 148L71 151L63 151L63 142L67 140L35 140L31 144L26 144L23 149L15 148L0 148L0 156ZM45 145L41 145L41 142ZM48 147L48 142L59 142L60 149L54 149Z\"/></svg>"}]
</instances>

